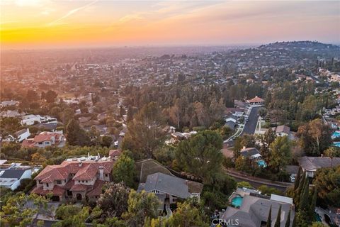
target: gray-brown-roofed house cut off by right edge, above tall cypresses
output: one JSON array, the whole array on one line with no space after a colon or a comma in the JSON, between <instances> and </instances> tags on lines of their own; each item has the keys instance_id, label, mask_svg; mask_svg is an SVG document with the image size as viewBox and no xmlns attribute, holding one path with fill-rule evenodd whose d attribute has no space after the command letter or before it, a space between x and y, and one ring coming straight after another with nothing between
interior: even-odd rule
<instances>
[{"instance_id":1,"label":"gray-brown-roofed house cut off by right edge, above tall cypresses","mask_svg":"<svg viewBox=\"0 0 340 227\"><path fill-rule=\"evenodd\" d=\"M336 167L340 165L340 157L300 157L298 160L302 170L307 172L308 177L314 177L320 168Z\"/></svg>"}]
</instances>

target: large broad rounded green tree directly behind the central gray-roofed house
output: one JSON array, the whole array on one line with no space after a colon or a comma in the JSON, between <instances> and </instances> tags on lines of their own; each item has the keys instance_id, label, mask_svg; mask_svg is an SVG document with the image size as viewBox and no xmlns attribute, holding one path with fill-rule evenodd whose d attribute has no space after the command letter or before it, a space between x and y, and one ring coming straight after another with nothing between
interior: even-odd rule
<instances>
[{"instance_id":1,"label":"large broad rounded green tree directly behind the central gray-roofed house","mask_svg":"<svg viewBox=\"0 0 340 227\"><path fill-rule=\"evenodd\" d=\"M222 167L222 138L215 131L200 131L176 148L176 161L183 169L211 182Z\"/></svg>"}]
</instances>

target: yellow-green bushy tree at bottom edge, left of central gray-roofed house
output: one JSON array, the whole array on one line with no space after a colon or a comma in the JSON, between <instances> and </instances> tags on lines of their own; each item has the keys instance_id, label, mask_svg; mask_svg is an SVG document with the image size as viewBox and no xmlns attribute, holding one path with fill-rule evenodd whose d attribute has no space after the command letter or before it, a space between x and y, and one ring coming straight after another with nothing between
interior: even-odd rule
<instances>
[{"instance_id":1,"label":"yellow-green bushy tree at bottom edge, left of central gray-roofed house","mask_svg":"<svg viewBox=\"0 0 340 227\"><path fill-rule=\"evenodd\" d=\"M153 193L131 190L128 199L128 211L123 214L128 226L142 227L145 218L157 218L159 199Z\"/></svg>"}]
</instances>

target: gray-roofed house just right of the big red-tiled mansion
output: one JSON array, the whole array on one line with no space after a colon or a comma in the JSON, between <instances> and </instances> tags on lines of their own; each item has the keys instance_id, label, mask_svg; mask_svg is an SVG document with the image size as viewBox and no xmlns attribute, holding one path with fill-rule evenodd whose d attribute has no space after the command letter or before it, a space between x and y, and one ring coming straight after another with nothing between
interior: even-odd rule
<instances>
[{"instance_id":1,"label":"gray-roofed house just right of the big red-tiled mansion","mask_svg":"<svg viewBox=\"0 0 340 227\"><path fill-rule=\"evenodd\" d=\"M162 172L157 172L147 176L145 183L140 183L137 191L145 190L156 194L161 201L162 206L159 209L164 209L164 204L174 204L178 198L188 199L197 197L200 199L203 184L182 179L175 176L166 175Z\"/></svg>"}]
</instances>

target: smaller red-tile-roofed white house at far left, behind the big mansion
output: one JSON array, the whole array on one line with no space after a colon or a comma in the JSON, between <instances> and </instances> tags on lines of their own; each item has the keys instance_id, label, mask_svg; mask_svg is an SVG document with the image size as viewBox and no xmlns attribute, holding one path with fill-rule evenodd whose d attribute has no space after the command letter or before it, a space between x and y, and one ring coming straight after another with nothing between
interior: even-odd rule
<instances>
[{"instance_id":1,"label":"smaller red-tile-roofed white house at far left, behind the big mansion","mask_svg":"<svg viewBox=\"0 0 340 227\"><path fill-rule=\"evenodd\" d=\"M22 148L46 148L51 145L63 147L65 137L62 132L42 132L34 138L23 140Z\"/></svg>"}]
</instances>

